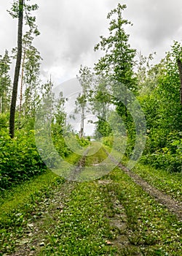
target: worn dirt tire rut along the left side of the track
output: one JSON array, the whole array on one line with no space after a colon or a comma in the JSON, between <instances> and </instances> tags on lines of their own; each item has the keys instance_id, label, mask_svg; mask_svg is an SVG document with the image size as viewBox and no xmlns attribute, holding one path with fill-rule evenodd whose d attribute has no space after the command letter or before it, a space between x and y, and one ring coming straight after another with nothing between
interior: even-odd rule
<instances>
[{"instance_id":1,"label":"worn dirt tire rut along the left side of the track","mask_svg":"<svg viewBox=\"0 0 182 256\"><path fill-rule=\"evenodd\" d=\"M25 227L22 237L17 239L14 249L15 252L6 256L37 255L41 250L41 247L45 246L46 237L49 236L51 230L57 225L56 220L58 216L56 214L58 214L58 211L60 211L60 213L63 211L71 192L76 186L74 180L79 176L79 173L85 164L85 157L89 149L90 147L84 151L82 158L79 159L76 167L72 170L68 181L56 188L53 197L47 198L46 203L43 202L45 203L44 206L37 209L36 214L39 215L40 212L44 211L44 215L36 221L30 220L27 227ZM46 222L47 225L44 224ZM42 230L42 226L44 227L44 230Z\"/></svg>"}]
</instances>

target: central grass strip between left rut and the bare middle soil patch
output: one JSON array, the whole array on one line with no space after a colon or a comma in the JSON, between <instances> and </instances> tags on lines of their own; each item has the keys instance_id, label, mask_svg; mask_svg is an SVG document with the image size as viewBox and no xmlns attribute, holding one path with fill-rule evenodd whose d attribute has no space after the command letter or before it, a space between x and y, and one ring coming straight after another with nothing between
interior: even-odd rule
<instances>
[{"instance_id":1,"label":"central grass strip between left rut and the bare middle soil patch","mask_svg":"<svg viewBox=\"0 0 182 256\"><path fill-rule=\"evenodd\" d=\"M39 255L116 255L117 249L106 244L112 236L106 206L98 184L78 184Z\"/></svg>"}]
</instances>

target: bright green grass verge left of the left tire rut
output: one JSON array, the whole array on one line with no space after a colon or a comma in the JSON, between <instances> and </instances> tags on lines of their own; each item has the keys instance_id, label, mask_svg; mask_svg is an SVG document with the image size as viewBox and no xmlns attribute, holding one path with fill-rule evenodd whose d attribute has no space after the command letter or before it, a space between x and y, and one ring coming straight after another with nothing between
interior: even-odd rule
<instances>
[{"instance_id":1,"label":"bright green grass verge left of the left tire rut","mask_svg":"<svg viewBox=\"0 0 182 256\"><path fill-rule=\"evenodd\" d=\"M66 161L75 164L80 157L71 154ZM12 252L16 239L22 236L28 221L41 217L39 205L52 197L55 189L64 183L64 178L46 170L40 176L34 176L29 181L1 192L0 248L3 252Z\"/></svg>"}]
</instances>

